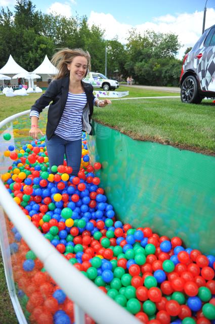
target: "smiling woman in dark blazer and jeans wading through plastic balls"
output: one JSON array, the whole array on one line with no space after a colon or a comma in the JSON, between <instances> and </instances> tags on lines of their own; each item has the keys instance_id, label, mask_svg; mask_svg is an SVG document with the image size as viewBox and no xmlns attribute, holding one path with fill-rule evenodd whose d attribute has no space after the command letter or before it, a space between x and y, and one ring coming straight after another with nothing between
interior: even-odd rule
<instances>
[{"instance_id":1,"label":"smiling woman in dark blazer and jeans wading through plastic balls","mask_svg":"<svg viewBox=\"0 0 215 324\"><path fill-rule=\"evenodd\" d=\"M50 170L52 166L63 164L64 154L67 165L72 167L72 175L77 175L81 162L82 130L92 134L91 116L93 106L105 107L110 100L98 100L93 94L93 86L82 79L91 69L91 57L82 49L58 51L52 58L58 74L48 89L31 107L30 136L33 139L42 134L38 127L39 113L52 104L48 111L46 146Z\"/></svg>"}]
</instances>

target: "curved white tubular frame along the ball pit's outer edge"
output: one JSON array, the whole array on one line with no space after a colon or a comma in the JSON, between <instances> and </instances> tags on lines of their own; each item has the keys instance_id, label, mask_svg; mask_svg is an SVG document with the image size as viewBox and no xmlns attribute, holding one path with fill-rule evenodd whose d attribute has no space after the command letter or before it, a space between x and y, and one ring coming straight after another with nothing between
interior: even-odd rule
<instances>
[{"instance_id":1,"label":"curved white tubular frame along the ball pit's outer edge","mask_svg":"<svg viewBox=\"0 0 215 324\"><path fill-rule=\"evenodd\" d=\"M0 128L17 117L26 115L30 110L18 113L0 122ZM138 324L139 320L123 307L115 303L93 282L81 274L63 257L56 248L36 229L32 222L22 212L21 208L12 199L2 180L0 181L0 204L10 220L22 235L30 249L44 264L57 284L75 304L75 323L84 324L83 312L89 314L98 324ZM1 223L0 223L1 226ZM3 228L2 231L5 231ZM4 249L4 246L2 247ZM4 255L3 251L3 255ZM4 258L5 259L5 258ZM10 269L5 263L6 276ZM7 283L9 278L7 278ZM9 293L11 286L8 284ZM11 299L13 296L11 297ZM17 299L18 301L18 299ZM20 305L19 305L20 307ZM14 307L17 317L20 316L19 307ZM20 307L21 308L21 307ZM19 318L19 317L18 317ZM24 321L20 321L24 324Z\"/></svg>"}]
</instances>

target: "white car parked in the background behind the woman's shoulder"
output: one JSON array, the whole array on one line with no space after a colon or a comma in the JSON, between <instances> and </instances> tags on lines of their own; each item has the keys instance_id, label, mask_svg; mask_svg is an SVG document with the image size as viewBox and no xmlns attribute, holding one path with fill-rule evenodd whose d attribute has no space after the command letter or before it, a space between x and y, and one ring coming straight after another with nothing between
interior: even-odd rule
<instances>
[{"instance_id":1,"label":"white car parked in the background behind the woman's shoulder","mask_svg":"<svg viewBox=\"0 0 215 324\"><path fill-rule=\"evenodd\" d=\"M108 79L103 74L96 72L88 73L83 81L92 84L95 88L103 88L105 91L115 90L119 87L118 81Z\"/></svg>"}]
</instances>

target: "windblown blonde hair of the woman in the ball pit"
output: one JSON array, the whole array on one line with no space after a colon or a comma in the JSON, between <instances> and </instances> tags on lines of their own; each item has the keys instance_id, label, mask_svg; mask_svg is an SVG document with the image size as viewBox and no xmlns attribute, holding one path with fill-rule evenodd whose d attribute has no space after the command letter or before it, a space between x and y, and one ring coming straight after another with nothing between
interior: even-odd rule
<instances>
[{"instance_id":1,"label":"windblown blonde hair of the woman in the ball pit","mask_svg":"<svg viewBox=\"0 0 215 324\"><path fill-rule=\"evenodd\" d=\"M81 48L69 49L63 48L57 53L55 53L51 59L51 62L58 69L58 74L54 79L62 79L69 76L69 70L67 64L71 63L73 58L76 56L83 56L87 58L88 61L88 71L91 71L91 56L88 51L83 51Z\"/></svg>"}]
</instances>

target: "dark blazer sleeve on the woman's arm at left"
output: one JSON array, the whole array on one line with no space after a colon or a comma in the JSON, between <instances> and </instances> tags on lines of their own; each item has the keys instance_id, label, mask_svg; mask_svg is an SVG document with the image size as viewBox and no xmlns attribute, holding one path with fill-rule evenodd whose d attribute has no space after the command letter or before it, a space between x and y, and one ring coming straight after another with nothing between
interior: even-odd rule
<instances>
[{"instance_id":1,"label":"dark blazer sleeve on the woman's arm at left","mask_svg":"<svg viewBox=\"0 0 215 324\"><path fill-rule=\"evenodd\" d=\"M38 113L41 113L42 109L48 106L50 102L55 99L56 95L59 92L57 81L58 80L53 80L50 83L46 92L35 101L34 105L31 107L31 111L37 111Z\"/></svg>"}]
</instances>

